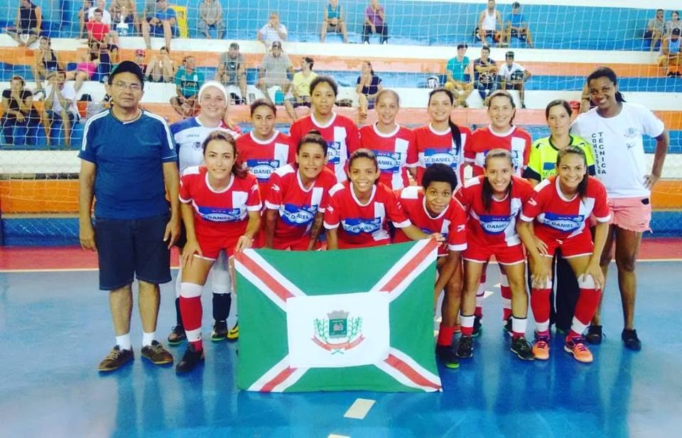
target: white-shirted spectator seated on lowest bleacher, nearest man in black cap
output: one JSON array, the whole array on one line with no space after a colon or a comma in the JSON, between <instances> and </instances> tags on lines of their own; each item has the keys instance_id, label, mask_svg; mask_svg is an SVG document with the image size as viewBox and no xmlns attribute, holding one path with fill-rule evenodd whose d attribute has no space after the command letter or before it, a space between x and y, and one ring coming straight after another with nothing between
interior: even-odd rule
<instances>
[{"instance_id":1,"label":"white-shirted spectator seated on lowest bleacher, nearest man in black cap","mask_svg":"<svg viewBox=\"0 0 682 438\"><path fill-rule=\"evenodd\" d=\"M48 133L48 146L53 144L56 134L55 122L61 122L64 129L64 144L71 146L71 126L80 119L76 106L76 90L73 82L66 82L66 73L53 72L45 87L45 131Z\"/></svg>"}]
</instances>

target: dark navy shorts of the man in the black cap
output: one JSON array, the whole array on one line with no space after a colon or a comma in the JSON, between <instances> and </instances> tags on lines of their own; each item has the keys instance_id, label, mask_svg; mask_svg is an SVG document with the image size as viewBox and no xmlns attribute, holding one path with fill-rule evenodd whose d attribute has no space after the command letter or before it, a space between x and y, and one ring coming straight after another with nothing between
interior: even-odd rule
<instances>
[{"instance_id":1,"label":"dark navy shorts of the man in the black cap","mask_svg":"<svg viewBox=\"0 0 682 438\"><path fill-rule=\"evenodd\" d=\"M134 278L154 285L171 281L171 251L163 241L168 219L94 220L100 290L122 288Z\"/></svg>"}]
</instances>

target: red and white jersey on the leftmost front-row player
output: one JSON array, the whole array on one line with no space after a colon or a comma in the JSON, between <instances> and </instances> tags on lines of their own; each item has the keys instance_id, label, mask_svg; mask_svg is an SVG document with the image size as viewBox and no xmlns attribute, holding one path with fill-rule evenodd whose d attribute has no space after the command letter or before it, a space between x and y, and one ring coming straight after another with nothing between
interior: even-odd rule
<instances>
[{"instance_id":1,"label":"red and white jersey on the leftmost front-row player","mask_svg":"<svg viewBox=\"0 0 682 438\"><path fill-rule=\"evenodd\" d=\"M197 236L239 239L247 230L248 212L261 209L256 177L232 175L229 185L216 191L208 183L205 165L186 168L180 178L180 202L194 207Z\"/></svg>"}]
</instances>

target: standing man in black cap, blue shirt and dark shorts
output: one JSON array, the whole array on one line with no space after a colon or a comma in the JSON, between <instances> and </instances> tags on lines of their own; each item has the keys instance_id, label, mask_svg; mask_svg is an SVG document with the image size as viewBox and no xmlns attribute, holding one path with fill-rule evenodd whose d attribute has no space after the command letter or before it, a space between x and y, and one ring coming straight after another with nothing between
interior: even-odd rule
<instances>
[{"instance_id":1,"label":"standing man in black cap, blue shirt and dark shorts","mask_svg":"<svg viewBox=\"0 0 682 438\"><path fill-rule=\"evenodd\" d=\"M156 318L158 285L171 281L170 248L180 233L177 155L166 121L139 109L143 86L135 62L116 67L105 85L112 109L87 121L78 155L80 244L97 250L99 289L109 291L116 333L116 346L99 371L114 371L134 358L134 278L139 282L144 332L141 355L157 365L173 363L173 356L156 341Z\"/></svg>"}]
</instances>

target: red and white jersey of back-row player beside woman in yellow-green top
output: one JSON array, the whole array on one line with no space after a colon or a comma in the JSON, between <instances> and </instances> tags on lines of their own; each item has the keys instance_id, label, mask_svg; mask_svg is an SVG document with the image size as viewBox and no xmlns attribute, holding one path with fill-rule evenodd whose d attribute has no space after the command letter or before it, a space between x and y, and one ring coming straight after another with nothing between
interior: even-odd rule
<instances>
[{"instance_id":1,"label":"red and white jersey of back-row player beside woman in yellow-green top","mask_svg":"<svg viewBox=\"0 0 682 438\"><path fill-rule=\"evenodd\" d=\"M521 176L531 158L531 135L518 126L511 126L508 132L499 134L490 126L478 128L471 134L471 141L464 149L464 159L473 165L473 176L485 172L485 154L492 149L509 150L514 163L514 174Z\"/></svg>"}]
</instances>

